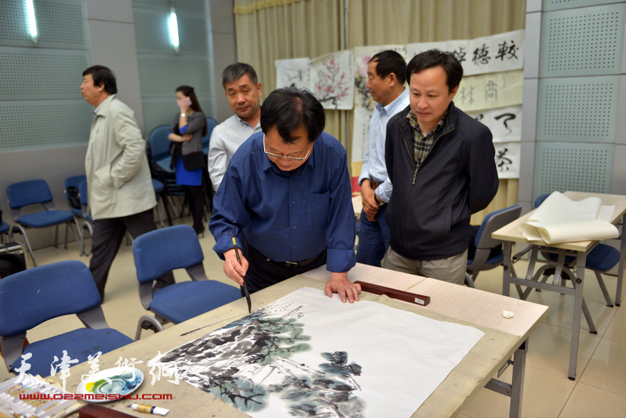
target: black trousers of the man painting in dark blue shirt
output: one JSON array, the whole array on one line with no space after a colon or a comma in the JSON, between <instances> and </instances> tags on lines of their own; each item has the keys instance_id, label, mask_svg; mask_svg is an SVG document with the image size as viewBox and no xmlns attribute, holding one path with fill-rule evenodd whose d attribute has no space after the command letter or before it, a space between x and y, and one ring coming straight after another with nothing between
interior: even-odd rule
<instances>
[{"instance_id":1,"label":"black trousers of the man painting in dark blue shirt","mask_svg":"<svg viewBox=\"0 0 626 418\"><path fill-rule=\"evenodd\" d=\"M265 289L266 287L282 282L288 278L294 277L294 275L305 273L316 267L326 264L326 250L323 250L318 256L311 259L310 262L306 262L303 266L285 266L270 261L259 250L250 246L247 242L244 243L243 255L248 259L248 272L246 273L246 285L250 293L257 290Z\"/></svg>"}]
</instances>

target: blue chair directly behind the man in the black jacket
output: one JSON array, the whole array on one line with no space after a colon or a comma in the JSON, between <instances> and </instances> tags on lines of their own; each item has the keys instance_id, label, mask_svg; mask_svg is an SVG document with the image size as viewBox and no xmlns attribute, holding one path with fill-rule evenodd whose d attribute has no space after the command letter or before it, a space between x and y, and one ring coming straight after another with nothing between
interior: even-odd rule
<instances>
[{"instance_id":1,"label":"blue chair directly behind the man in the black jacket","mask_svg":"<svg viewBox=\"0 0 626 418\"><path fill-rule=\"evenodd\" d=\"M522 207L519 204L493 211L483 220L479 228L474 245L476 253L473 259L467 259L467 269L465 271L465 284L469 287L474 286L474 280L481 271L491 270L502 265L504 262L504 252L499 251L497 255L490 257L491 249L502 243L497 239L492 239L491 234L495 230L499 230L513 220L520 217Z\"/></svg>"}]
</instances>

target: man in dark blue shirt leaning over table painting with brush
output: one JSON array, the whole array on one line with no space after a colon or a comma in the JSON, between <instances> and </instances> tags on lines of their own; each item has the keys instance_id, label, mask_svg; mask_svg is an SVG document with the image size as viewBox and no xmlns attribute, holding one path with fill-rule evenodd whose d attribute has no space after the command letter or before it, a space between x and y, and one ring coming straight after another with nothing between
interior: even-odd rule
<instances>
[{"instance_id":1,"label":"man in dark blue shirt leaning over table painting with brush","mask_svg":"<svg viewBox=\"0 0 626 418\"><path fill-rule=\"evenodd\" d=\"M235 152L216 192L213 249L226 275L240 285L243 277L251 292L326 264L326 294L359 300L360 286L348 280L355 220L346 150L324 123L311 93L273 91L261 107L263 131ZM233 236L243 242L241 263Z\"/></svg>"}]
</instances>

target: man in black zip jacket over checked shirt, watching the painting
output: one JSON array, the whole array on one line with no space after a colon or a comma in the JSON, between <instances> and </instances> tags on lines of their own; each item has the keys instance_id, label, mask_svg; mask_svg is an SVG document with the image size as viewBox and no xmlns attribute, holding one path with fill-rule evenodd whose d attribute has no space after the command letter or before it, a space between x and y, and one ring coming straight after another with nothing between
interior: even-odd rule
<instances>
[{"instance_id":1,"label":"man in black zip jacket over checked shirt, watching the painting","mask_svg":"<svg viewBox=\"0 0 626 418\"><path fill-rule=\"evenodd\" d=\"M387 124L394 193L383 267L463 284L470 216L498 189L492 135L452 102L463 77L452 54L417 54L406 74L410 105Z\"/></svg>"}]
</instances>

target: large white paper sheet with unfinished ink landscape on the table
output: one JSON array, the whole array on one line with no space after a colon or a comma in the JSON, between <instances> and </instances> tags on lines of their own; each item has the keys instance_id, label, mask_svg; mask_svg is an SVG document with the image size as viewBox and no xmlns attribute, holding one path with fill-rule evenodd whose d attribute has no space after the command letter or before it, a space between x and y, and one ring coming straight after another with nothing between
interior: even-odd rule
<instances>
[{"instance_id":1,"label":"large white paper sheet with unfinished ink landscape on the table","mask_svg":"<svg viewBox=\"0 0 626 418\"><path fill-rule=\"evenodd\" d=\"M410 417L482 336L303 287L150 363L255 418Z\"/></svg>"}]
</instances>

